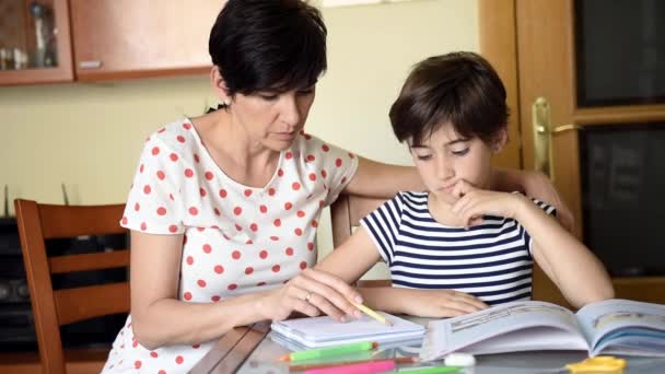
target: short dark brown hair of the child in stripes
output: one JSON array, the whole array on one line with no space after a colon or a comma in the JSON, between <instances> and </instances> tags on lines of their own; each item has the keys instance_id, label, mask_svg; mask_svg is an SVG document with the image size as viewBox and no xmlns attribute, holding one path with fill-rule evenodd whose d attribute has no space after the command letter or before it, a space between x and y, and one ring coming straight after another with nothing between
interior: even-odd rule
<instances>
[{"instance_id":1,"label":"short dark brown hair of the child in stripes","mask_svg":"<svg viewBox=\"0 0 665 374\"><path fill-rule=\"evenodd\" d=\"M421 144L451 122L464 139L490 144L506 127L505 87L492 66L477 54L451 52L417 63L390 107L397 139Z\"/></svg>"}]
</instances>

